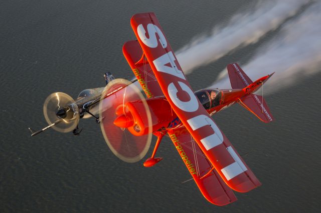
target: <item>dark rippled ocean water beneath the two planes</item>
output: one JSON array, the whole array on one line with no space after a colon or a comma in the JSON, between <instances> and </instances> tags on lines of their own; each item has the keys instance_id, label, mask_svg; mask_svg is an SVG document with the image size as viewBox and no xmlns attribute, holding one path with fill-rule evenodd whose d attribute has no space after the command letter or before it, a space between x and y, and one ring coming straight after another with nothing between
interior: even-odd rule
<instances>
[{"instance_id":1,"label":"dark rippled ocean water beneath the two planes","mask_svg":"<svg viewBox=\"0 0 321 213\"><path fill-rule=\"evenodd\" d=\"M0 2L0 212L317 212L320 194L321 73L299 78L264 96L275 118L262 123L239 105L214 119L262 186L215 206L201 194L172 141L164 138L157 165L126 163L112 154L94 119L80 136L49 129L42 107L55 91L77 97L105 84L103 73L131 78L122 55L135 39L130 17L156 13L174 50L213 27L228 24L256 1L127 2L108 0L1 0ZM304 9L304 8L303 8ZM251 45L187 75L197 90L211 85L231 62L251 60L278 28ZM246 72L246 70L245 70ZM281 82L280 82L281 83Z\"/></svg>"}]
</instances>

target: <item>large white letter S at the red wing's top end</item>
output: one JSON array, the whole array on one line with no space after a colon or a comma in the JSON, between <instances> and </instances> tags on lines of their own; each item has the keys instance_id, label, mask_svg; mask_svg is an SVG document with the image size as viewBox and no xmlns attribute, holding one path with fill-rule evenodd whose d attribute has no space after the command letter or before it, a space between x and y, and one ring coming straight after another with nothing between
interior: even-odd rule
<instances>
[{"instance_id":1,"label":"large white letter S at the red wing's top end","mask_svg":"<svg viewBox=\"0 0 321 213\"><path fill-rule=\"evenodd\" d=\"M151 48L155 48L158 45L157 38L156 38L156 33L159 36L159 42L161 42L162 47L166 48L167 47L167 41L165 38L165 35L163 34L162 30L158 28L155 24L148 23L147 24L147 32L149 35L149 38L146 37L146 31L142 24L139 24L137 26L137 33L140 38L140 40L147 46Z\"/></svg>"}]
</instances>

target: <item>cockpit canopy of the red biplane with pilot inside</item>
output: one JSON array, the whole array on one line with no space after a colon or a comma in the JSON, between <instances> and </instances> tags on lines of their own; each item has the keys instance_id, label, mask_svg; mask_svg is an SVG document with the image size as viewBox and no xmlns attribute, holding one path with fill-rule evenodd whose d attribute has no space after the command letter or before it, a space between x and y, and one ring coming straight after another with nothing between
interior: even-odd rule
<instances>
[{"instance_id":1,"label":"cockpit canopy of the red biplane with pilot inside","mask_svg":"<svg viewBox=\"0 0 321 213\"><path fill-rule=\"evenodd\" d=\"M195 92L205 109L210 109L223 103L224 94L220 89L206 88Z\"/></svg>"}]
</instances>

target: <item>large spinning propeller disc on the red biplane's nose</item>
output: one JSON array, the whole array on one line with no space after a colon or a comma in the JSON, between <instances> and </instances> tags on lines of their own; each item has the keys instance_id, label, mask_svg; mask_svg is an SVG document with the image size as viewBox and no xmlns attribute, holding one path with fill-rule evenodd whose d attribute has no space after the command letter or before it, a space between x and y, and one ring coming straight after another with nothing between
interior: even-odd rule
<instances>
[{"instance_id":1,"label":"large spinning propeller disc on the red biplane's nose","mask_svg":"<svg viewBox=\"0 0 321 213\"><path fill-rule=\"evenodd\" d=\"M102 96L107 97L99 103L100 127L107 145L118 158L137 162L150 146L151 116L140 90L128 82L115 79L106 85Z\"/></svg>"}]
</instances>

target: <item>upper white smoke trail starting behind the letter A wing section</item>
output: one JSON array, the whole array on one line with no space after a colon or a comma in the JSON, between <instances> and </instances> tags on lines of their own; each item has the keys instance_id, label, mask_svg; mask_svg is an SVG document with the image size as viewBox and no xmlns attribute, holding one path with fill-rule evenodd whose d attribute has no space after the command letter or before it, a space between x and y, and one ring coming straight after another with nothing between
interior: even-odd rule
<instances>
[{"instance_id":1,"label":"upper white smoke trail starting behind the letter A wing section","mask_svg":"<svg viewBox=\"0 0 321 213\"><path fill-rule=\"evenodd\" d=\"M260 1L256 11L239 14L222 29L214 28L205 39L178 50L177 58L184 72L191 73L200 65L217 60L238 46L255 43L269 30L277 28L284 20L295 15L310 0Z\"/></svg>"}]
</instances>

